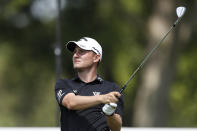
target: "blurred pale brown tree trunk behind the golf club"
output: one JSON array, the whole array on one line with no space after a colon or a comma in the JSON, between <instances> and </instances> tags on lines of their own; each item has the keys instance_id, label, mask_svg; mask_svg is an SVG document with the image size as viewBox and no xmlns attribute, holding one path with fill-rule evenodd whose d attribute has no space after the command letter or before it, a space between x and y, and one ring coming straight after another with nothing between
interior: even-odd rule
<instances>
[{"instance_id":1,"label":"blurred pale brown tree trunk behind the golf club","mask_svg":"<svg viewBox=\"0 0 197 131\"><path fill-rule=\"evenodd\" d=\"M147 27L149 52L162 39L176 20L172 0L155 0L153 14ZM175 73L176 37L172 31L145 64L137 92L134 126L166 126L168 120L168 91Z\"/></svg>"}]
</instances>

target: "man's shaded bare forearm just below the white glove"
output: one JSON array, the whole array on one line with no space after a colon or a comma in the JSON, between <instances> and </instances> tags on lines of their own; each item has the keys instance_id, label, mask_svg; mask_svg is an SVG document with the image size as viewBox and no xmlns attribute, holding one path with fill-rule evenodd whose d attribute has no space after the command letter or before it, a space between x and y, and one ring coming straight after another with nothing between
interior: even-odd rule
<instances>
[{"instance_id":1,"label":"man's shaded bare forearm just below the white glove","mask_svg":"<svg viewBox=\"0 0 197 131\"><path fill-rule=\"evenodd\" d=\"M111 131L120 131L122 126L122 119L120 115L114 114L113 116L106 116L107 124L110 127Z\"/></svg>"}]
</instances>

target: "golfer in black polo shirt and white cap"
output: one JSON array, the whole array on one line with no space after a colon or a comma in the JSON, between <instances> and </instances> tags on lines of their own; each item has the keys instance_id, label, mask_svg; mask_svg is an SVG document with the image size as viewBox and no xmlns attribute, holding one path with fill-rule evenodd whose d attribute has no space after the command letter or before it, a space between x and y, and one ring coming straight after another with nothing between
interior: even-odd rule
<instances>
[{"instance_id":1,"label":"golfer in black polo shirt and white cap","mask_svg":"<svg viewBox=\"0 0 197 131\"><path fill-rule=\"evenodd\" d=\"M67 43L73 52L76 77L57 80L55 95L61 110L61 131L120 131L123 96L115 83L97 74L102 47L88 37Z\"/></svg>"}]
</instances>

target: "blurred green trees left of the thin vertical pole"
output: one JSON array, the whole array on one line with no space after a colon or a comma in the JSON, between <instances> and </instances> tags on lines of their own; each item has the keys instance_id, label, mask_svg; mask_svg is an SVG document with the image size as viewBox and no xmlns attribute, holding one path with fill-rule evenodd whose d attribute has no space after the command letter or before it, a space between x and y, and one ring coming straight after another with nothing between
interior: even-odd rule
<instances>
[{"instance_id":1,"label":"blurred green trees left of the thin vertical pole","mask_svg":"<svg viewBox=\"0 0 197 131\"><path fill-rule=\"evenodd\" d=\"M55 124L54 26L34 19L31 4L0 4L1 126Z\"/></svg>"}]
</instances>

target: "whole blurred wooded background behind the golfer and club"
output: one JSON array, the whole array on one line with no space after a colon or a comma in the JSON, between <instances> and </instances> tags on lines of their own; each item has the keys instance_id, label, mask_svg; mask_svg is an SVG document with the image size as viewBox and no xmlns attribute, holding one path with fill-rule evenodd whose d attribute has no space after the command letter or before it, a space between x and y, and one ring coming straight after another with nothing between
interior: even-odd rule
<instances>
[{"instance_id":1,"label":"whole blurred wooded background behind the golfer and club","mask_svg":"<svg viewBox=\"0 0 197 131\"><path fill-rule=\"evenodd\" d=\"M123 126L197 127L196 0L0 0L0 126L59 126L54 85L72 78L66 42L103 47L102 78L122 86L187 12L124 92Z\"/></svg>"}]
</instances>

